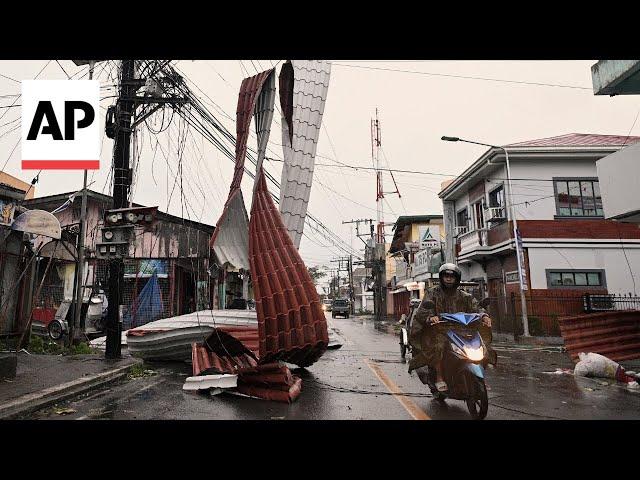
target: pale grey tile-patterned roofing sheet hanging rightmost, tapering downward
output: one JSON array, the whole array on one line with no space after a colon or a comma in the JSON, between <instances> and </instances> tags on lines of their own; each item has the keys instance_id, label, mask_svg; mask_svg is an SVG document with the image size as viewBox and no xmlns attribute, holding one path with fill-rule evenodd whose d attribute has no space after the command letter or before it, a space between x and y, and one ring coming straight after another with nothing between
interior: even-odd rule
<instances>
[{"instance_id":1,"label":"pale grey tile-patterned roofing sheet hanging rightmost, tapering downward","mask_svg":"<svg viewBox=\"0 0 640 480\"><path fill-rule=\"evenodd\" d=\"M330 74L330 62L315 60L287 62L280 72L284 153L280 212L296 248L304 229Z\"/></svg>"}]
</instances>

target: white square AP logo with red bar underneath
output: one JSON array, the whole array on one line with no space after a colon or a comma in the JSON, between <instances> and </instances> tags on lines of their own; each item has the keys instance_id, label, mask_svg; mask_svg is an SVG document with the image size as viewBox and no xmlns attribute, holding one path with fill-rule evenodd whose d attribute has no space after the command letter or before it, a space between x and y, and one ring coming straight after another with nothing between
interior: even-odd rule
<instances>
[{"instance_id":1,"label":"white square AP logo with red bar underneath","mask_svg":"<svg viewBox=\"0 0 640 480\"><path fill-rule=\"evenodd\" d=\"M100 82L22 82L23 170L100 168Z\"/></svg>"}]
</instances>

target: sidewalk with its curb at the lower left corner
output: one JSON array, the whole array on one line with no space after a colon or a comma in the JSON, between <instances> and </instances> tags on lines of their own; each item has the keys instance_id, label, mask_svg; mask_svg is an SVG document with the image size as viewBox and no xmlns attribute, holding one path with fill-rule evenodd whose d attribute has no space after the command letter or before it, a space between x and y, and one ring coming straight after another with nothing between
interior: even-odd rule
<instances>
[{"instance_id":1,"label":"sidewalk with its curb at the lower left corner","mask_svg":"<svg viewBox=\"0 0 640 480\"><path fill-rule=\"evenodd\" d=\"M0 419L15 418L124 378L132 357L18 353L16 377L0 380Z\"/></svg>"}]
</instances>

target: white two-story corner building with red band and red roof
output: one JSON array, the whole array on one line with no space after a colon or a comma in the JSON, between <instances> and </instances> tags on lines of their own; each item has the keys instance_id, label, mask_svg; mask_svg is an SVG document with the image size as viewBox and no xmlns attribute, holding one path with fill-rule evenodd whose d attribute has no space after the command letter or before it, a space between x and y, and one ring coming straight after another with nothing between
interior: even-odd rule
<instances>
[{"instance_id":1,"label":"white two-story corner building with red band and red roof","mask_svg":"<svg viewBox=\"0 0 640 480\"><path fill-rule=\"evenodd\" d=\"M633 272L640 271L640 228L605 218L603 172L596 162L638 141L574 133L507 145L511 196L504 152L489 149L439 194L447 259L460 266L463 279L478 281L486 294L505 299L497 303L508 310L506 299L519 292L511 198L524 249L530 316L536 316L536 307L550 304L536 298L633 292ZM556 303L558 314L582 308L581 300ZM557 331L555 317L539 316L545 332Z\"/></svg>"}]
</instances>

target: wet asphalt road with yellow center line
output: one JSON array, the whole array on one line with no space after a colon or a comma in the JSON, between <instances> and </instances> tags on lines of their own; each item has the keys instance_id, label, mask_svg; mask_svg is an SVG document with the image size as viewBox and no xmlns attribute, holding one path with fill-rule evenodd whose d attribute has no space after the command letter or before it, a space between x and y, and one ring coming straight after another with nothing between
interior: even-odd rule
<instances>
[{"instance_id":1,"label":"wet asphalt road with yellow center line","mask_svg":"<svg viewBox=\"0 0 640 480\"><path fill-rule=\"evenodd\" d=\"M343 341L308 369L302 394L280 404L224 393L184 392L191 375L186 363L147 363L155 373L111 385L32 419L122 420L470 420L462 401L440 405L429 389L401 362L391 322L370 317L329 319ZM572 368L558 349L496 345L498 366L487 371L487 419L640 419L640 393L614 380L558 375ZM393 395L392 394L398 394ZM59 415L60 408L74 410Z\"/></svg>"}]
</instances>

